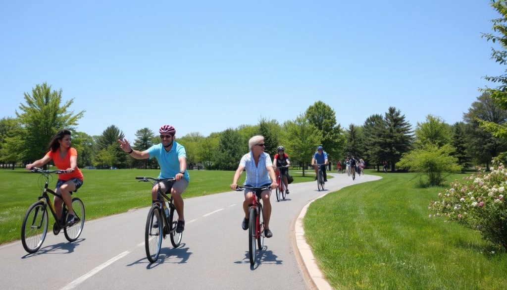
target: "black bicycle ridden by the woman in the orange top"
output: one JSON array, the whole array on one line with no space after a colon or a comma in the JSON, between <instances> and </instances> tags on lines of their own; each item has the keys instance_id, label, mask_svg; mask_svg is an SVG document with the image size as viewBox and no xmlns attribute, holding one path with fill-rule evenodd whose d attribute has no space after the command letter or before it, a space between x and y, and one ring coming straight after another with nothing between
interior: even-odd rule
<instances>
[{"instance_id":1,"label":"black bicycle ridden by the woman in the orange top","mask_svg":"<svg viewBox=\"0 0 507 290\"><path fill-rule=\"evenodd\" d=\"M33 167L31 171L42 174L39 176L40 182L42 182L43 179L46 180L44 181L44 187L41 188L42 194L38 198L38 201L28 207L28 210L23 217L23 223L21 225L21 243L23 244L23 248L29 253L37 252L41 248L48 232L48 205L49 210L55 219L55 223L53 224L53 234L56 236L63 229L63 233L67 241L76 241L81 235L85 224L85 206L83 205L83 202L79 198L72 199L72 208L75 212L75 218L73 223L67 224L65 221L67 220L68 210L65 203L63 203L62 206L61 216L58 217L56 216L55 207L48 195L49 192L50 194L62 199L62 196L48 188L48 185L50 181L52 181L51 174L62 174L66 173L66 171L42 170L37 167ZM77 190L73 192L76 191ZM70 194L73 192L70 192Z\"/></svg>"}]
</instances>

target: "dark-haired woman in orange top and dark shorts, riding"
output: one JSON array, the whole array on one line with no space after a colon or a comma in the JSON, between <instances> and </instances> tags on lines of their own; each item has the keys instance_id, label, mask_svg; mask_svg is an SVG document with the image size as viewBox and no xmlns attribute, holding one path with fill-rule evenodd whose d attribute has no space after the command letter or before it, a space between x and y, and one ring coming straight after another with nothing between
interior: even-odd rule
<instances>
[{"instance_id":1,"label":"dark-haired woman in orange top and dark shorts, riding","mask_svg":"<svg viewBox=\"0 0 507 290\"><path fill-rule=\"evenodd\" d=\"M75 223L79 221L79 217L75 216L74 210L72 209L72 197L70 196L71 191L76 191L83 185L83 173L78 168L78 151L70 147L71 143L71 132L69 130L60 130L53 136L51 142L49 142L49 152L44 155L41 159L27 164L26 169L31 170L32 167L42 167L53 159L53 163L59 170L65 170L67 173L58 174L58 181L56 182L55 192L62 196L62 199L55 196L54 206L56 216L62 214L62 202L68 208L68 215L66 221L67 224Z\"/></svg>"}]
</instances>

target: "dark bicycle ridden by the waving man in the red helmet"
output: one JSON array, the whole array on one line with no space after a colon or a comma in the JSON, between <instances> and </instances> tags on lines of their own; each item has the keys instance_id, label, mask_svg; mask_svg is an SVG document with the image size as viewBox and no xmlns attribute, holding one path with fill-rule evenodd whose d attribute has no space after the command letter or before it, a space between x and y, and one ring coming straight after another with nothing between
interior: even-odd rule
<instances>
[{"instance_id":1,"label":"dark bicycle ridden by the waving man in the red helmet","mask_svg":"<svg viewBox=\"0 0 507 290\"><path fill-rule=\"evenodd\" d=\"M176 182L174 177L170 178L152 178L138 176L135 179L140 179L139 182L150 182L155 186L155 182L168 182L169 188L166 192L170 192L172 185ZM150 181L150 180L153 180ZM164 202L164 199L167 200ZM169 207L169 208L167 208ZM166 209L169 214L166 215ZM163 218L161 218L163 216ZM151 263L158 260L160 248L162 246L162 238L170 236L171 244L174 248L179 247L182 242L183 232L176 232L176 225L178 224L178 212L172 202L172 197L167 196L158 186L157 200L148 211L148 218L146 219L146 230L144 231L144 248L146 249L146 257ZM162 229L162 231L160 231Z\"/></svg>"}]
</instances>

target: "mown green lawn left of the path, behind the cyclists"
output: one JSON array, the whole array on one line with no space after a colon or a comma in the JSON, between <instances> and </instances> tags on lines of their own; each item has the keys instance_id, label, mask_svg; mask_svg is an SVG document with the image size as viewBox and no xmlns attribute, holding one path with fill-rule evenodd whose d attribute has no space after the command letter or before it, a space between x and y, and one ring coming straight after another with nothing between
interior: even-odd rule
<instances>
[{"instance_id":1,"label":"mown green lawn left of the path, behind the cyclists","mask_svg":"<svg viewBox=\"0 0 507 290\"><path fill-rule=\"evenodd\" d=\"M309 172L307 172L309 173ZM138 182L136 176L157 177L159 170L83 170L85 181L78 190L85 204L86 220L121 213L151 204L151 184ZM190 185L184 198L229 191L233 171L191 170ZM294 183L313 180L314 175L302 177L293 173ZM21 222L28 207L40 196L38 177L24 169L0 169L0 244L20 239ZM56 184L57 176L50 183ZM238 184L245 178L243 173ZM44 185L44 184L42 184ZM49 214L49 230L54 220Z\"/></svg>"}]
</instances>

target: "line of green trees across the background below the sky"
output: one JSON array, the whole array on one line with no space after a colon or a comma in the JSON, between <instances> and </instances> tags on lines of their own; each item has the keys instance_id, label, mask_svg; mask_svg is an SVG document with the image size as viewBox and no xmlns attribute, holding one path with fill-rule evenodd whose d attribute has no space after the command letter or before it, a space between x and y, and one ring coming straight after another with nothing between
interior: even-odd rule
<instances>
[{"instance_id":1,"label":"line of green trees across the background below the sky","mask_svg":"<svg viewBox=\"0 0 507 290\"><path fill-rule=\"evenodd\" d=\"M70 111L74 99L62 102L62 89L51 90L47 83L38 84L31 94L24 93L24 101L15 118L0 119L0 166L4 168L23 166L39 159L47 152L51 137L62 128L73 130L73 147L79 152L78 166L81 168L157 167L155 160L129 158L117 142L124 134L114 124L98 136L75 131L85 111ZM209 136L199 132L176 136L176 141L185 146L190 169L236 169L253 135L265 137L266 152L271 156L283 145L293 165L303 169L308 166L317 145L324 147L333 164L354 155L377 170L384 161L391 171L410 168L407 164L399 164L404 154L420 151L425 146L430 151L447 146L446 155L456 158L453 160L461 168L478 164L487 167L493 156L507 151L507 142L486 132L480 122L503 124L506 119L507 111L492 101L489 92L477 98L463 114L463 121L450 125L439 116L428 115L424 122L417 123L415 130L395 107L389 107L383 115L369 116L362 125L349 124L343 128L337 123L336 111L317 101L295 119L281 124L262 118L257 124L241 124ZM144 150L159 142L160 137L152 128L139 128L132 145L136 150ZM428 144L437 147L429 148Z\"/></svg>"}]
</instances>

